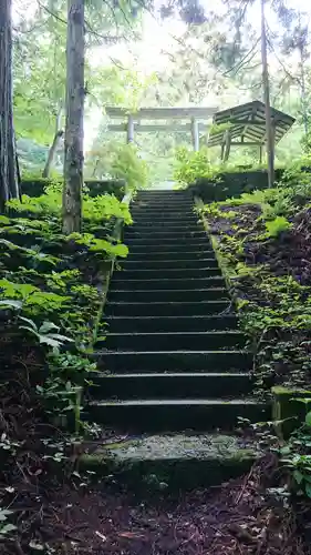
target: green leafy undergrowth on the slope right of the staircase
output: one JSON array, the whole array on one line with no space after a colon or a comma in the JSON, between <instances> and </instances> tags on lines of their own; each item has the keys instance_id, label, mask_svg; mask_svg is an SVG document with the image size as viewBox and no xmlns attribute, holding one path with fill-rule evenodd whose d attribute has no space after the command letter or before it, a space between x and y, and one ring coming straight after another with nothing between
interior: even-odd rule
<instances>
[{"instance_id":1,"label":"green leafy undergrowth on the slope right of the staircase","mask_svg":"<svg viewBox=\"0 0 311 555\"><path fill-rule=\"evenodd\" d=\"M311 497L310 175L293 168L274 189L207 204L203 212L256 354L257 394L270 396L278 386L302 408L279 423L283 434L290 421L292 432L281 434L281 464L293 471L282 493L293 488Z\"/></svg>"}]
</instances>

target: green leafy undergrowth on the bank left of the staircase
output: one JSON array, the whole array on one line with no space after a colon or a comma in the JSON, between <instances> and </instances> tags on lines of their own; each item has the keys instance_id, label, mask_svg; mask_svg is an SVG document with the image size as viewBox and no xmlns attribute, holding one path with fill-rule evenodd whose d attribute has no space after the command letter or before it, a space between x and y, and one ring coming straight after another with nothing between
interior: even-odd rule
<instances>
[{"instance_id":1,"label":"green leafy undergrowth on the bank left of the staircase","mask_svg":"<svg viewBox=\"0 0 311 555\"><path fill-rule=\"evenodd\" d=\"M55 553L40 532L44 492L83 482L75 460L90 433L81 412L103 285L114 256L127 254L117 219L132 222L126 204L85 192L82 233L64 236L58 184L0 216L1 553Z\"/></svg>"}]
</instances>

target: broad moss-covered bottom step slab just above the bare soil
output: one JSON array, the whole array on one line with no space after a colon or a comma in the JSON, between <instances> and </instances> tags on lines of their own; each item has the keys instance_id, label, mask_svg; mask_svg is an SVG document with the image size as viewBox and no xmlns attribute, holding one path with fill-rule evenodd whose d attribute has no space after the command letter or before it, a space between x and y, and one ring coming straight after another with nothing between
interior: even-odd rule
<instances>
[{"instance_id":1,"label":"broad moss-covered bottom step slab just above the bare soil","mask_svg":"<svg viewBox=\"0 0 311 555\"><path fill-rule=\"evenodd\" d=\"M218 485L248 472L258 457L242 440L225 434L157 434L96 445L80 467L112 475L137 491L164 494Z\"/></svg>"}]
</instances>

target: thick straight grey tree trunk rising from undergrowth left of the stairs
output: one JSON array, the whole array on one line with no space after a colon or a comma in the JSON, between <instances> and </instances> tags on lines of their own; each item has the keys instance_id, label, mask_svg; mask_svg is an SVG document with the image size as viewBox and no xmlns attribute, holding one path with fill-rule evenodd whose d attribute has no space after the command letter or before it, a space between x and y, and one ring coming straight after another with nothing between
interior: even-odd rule
<instances>
[{"instance_id":1,"label":"thick straight grey tree trunk rising from undergrowth left of the stairs","mask_svg":"<svg viewBox=\"0 0 311 555\"><path fill-rule=\"evenodd\" d=\"M68 0L63 233L81 231L84 114L84 0Z\"/></svg>"}]
</instances>

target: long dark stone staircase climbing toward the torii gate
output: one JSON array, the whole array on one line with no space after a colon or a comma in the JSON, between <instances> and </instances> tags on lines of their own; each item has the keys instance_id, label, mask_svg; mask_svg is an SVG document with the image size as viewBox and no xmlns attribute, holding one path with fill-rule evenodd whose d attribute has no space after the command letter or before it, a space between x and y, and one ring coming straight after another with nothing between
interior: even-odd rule
<instances>
[{"instance_id":1,"label":"long dark stone staircase climbing toward the torii gate","mask_svg":"<svg viewBox=\"0 0 311 555\"><path fill-rule=\"evenodd\" d=\"M172 433L179 447L185 431L200 434L201 445L203 433L210 441L219 430L229 437L238 416L267 420L268 407L251 396L252 355L189 193L143 191L132 213L134 225L124 238L129 255L114 272L106 339L96 345L101 373L89 418L128 433L156 433L164 443L170 434L172 460ZM141 447L135 453L142 455Z\"/></svg>"}]
</instances>

